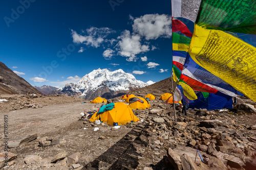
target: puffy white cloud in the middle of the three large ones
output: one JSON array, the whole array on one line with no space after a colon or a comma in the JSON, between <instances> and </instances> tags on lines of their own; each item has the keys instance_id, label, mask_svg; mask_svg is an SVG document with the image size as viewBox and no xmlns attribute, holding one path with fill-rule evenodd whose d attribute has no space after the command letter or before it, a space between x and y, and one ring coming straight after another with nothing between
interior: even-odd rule
<instances>
[{"instance_id":1,"label":"puffy white cloud in the middle of the three large ones","mask_svg":"<svg viewBox=\"0 0 256 170\"><path fill-rule=\"evenodd\" d=\"M127 57L127 61L137 61L137 54L150 51L148 45L141 45L139 35L131 35L128 30L123 31L118 39L120 39L117 44L120 48L118 54Z\"/></svg>"}]
</instances>

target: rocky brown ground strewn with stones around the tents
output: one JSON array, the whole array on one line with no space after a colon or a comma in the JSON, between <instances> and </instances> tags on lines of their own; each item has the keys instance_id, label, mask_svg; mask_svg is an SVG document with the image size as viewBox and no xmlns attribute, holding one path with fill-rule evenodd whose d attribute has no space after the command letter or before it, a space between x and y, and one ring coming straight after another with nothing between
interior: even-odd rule
<instances>
[{"instance_id":1,"label":"rocky brown ground strewn with stones around the tents","mask_svg":"<svg viewBox=\"0 0 256 170\"><path fill-rule=\"evenodd\" d=\"M169 87L152 93L147 110L134 110L140 122L119 129L96 125L81 112L101 104L67 96L3 96L0 161L2 169L255 169L255 102L238 109L188 110L188 116L158 100ZM159 95L159 96L158 96ZM115 99L113 102L117 102ZM85 102L85 103L84 103ZM27 105L32 105L27 108ZM251 104L252 108L248 107ZM37 107L38 106L38 107ZM40 107L39 107L40 106ZM42 107L41 107L42 106ZM8 117L7 136L4 117ZM99 130L94 131L95 128ZM5 143L6 142L6 143ZM7 144L7 145L6 145ZM200 155L198 154L198 152ZM8 162L5 165L5 154ZM200 159L202 157L202 160ZM202 162L203 161L203 162Z\"/></svg>"}]
</instances>

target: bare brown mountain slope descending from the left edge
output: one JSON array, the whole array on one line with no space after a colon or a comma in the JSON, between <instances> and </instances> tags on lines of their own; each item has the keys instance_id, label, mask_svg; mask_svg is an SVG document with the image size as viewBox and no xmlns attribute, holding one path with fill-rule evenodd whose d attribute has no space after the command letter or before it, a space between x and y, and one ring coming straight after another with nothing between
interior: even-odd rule
<instances>
[{"instance_id":1,"label":"bare brown mountain slope descending from the left edge","mask_svg":"<svg viewBox=\"0 0 256 170\"><path fill-rule=\"evenodd\" d=\"M0 62L0 94L26 94L27 92L42 94Z\"/></svg>"}]
</instances>

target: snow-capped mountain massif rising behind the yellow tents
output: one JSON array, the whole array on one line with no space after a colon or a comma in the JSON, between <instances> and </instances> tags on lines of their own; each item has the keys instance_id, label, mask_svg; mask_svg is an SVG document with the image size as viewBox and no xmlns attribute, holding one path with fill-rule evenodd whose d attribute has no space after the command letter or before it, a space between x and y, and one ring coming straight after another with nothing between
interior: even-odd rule
<instances>
[{"instance_id":1,"label":"snow-capped mountain massif rising behind the yellow tents","mask_svg":"<svg viewBox=\"0 0 256 170\"><path fill-rule=\"evenodd\" d=\"M78 83L66 84L55 92L90 100L99 96L105 99L112 99L115 96L129 92L129 90L150 84L153 84L153 82L144 83L136 80L132 74L125 73L122 69L110 71L99 68L83 76Z\"/></svg>"}]
</instances>

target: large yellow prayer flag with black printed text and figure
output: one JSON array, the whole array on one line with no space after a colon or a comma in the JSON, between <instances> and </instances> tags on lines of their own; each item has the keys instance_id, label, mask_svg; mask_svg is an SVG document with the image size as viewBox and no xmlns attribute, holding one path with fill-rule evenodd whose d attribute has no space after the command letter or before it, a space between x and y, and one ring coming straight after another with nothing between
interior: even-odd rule
<instances>
[{"instance_id":1,"label":"large yellow prayer flag with black printed text and figure","mask_svg":"<svg viewBox=\"0 0 256 170\"><path fill-rule=\"evenodd\" d=\"M191 58L215 76L256 101L256 48L219 30L195 25Z\"/></svg>"}]
</instances>

